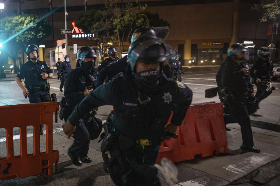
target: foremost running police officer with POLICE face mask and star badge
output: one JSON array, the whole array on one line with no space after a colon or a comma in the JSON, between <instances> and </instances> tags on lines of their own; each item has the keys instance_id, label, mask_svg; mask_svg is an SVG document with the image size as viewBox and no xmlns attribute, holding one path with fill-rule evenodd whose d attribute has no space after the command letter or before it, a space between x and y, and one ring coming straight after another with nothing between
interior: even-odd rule
<instances>
[{"instance_id":1,"label":"foremost running police officer with POLICE face mask and star badge","mask_svg":"<svg viewBox=\"0 0 280 186\"><path fill-rule=\"evenodd\" d=\"M133 42L127 57L133 76L99 86L78 103L63 125L65 134L70 137L83 113L101 105L114 106L111 131L115 140L106 156L116 185L160 185L158 170L153 164L162 132L175 133L191 103L192 91L162 74L165 55L161 40ZM171 111L171 124L164 127Z\"/></svg>"}]
</instances>

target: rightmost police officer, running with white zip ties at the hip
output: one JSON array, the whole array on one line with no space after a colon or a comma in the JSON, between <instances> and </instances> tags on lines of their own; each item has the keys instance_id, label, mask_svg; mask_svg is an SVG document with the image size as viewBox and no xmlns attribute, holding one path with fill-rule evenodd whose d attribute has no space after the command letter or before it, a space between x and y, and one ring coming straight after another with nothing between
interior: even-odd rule
<instances>
[{"instance_id":1,"label":"rightmost police officer, running with white zip ties at the hip","mask_svg":"<svg viewBox=\"0 0 280 186\"><path fill-rule=\"evenodd\" d=\"M266 90L266 81L270 81L273 76L273 64L269 58L271 50L268 47L260 47L257 51L258 60L253 64L250 74L257 87L255 98L259 101L265 99L272 93L272 89ZM255 71L255 72L254 72ZM263 82L262 82L263 81Z\"/></svg>"}]
</instances>

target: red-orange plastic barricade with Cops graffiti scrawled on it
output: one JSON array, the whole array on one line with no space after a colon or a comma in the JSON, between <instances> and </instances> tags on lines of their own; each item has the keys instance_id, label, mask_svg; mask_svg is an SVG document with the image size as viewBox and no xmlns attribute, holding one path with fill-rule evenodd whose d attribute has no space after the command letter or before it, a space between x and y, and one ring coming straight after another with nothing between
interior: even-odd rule
<instances>
[{"instance_id":1,"label":"red-orange plastic barricade with Cops graffiti scrawled on it","mask_svg":"<svg viewBox=\"0 0 280 186\"><path fill-rule=\"evenodd\" d=\"M169 119L170 123L171 117ZM190 105L185 119L177 128L178 138L164 140L160 146L157 163L163 157L173 162L211 156L227 152L227 135L223 118L223 103L198 103Z\"/></svg>"}]
</instances>

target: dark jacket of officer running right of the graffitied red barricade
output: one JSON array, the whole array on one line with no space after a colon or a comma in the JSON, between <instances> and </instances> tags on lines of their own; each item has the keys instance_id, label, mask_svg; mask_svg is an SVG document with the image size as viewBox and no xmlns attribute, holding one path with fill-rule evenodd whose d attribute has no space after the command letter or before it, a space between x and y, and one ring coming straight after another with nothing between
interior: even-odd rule
<instances>
[{"instance_id":1,"label":"dark jacket of officer running right of the graffitied red barricade","mask_svg":"<svg viewBox=\"0 0 280 186\"><path fill-rule=\"evenodd\" d=\"M248 63L246 60L242 60L239 65L235 61L227 61L223 68L222 86L237 100L244 100L249 92L249 88L252 87ZM242 68L248 69L248 75L241 71Z\"/></svg>"}]
</instances>

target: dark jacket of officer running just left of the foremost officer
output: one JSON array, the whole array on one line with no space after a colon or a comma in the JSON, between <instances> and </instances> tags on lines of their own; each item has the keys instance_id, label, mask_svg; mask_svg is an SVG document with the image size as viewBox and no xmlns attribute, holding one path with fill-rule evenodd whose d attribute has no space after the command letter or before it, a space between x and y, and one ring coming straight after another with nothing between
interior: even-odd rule
<instances>
[{"instance_id":1,"label":"dark jacket of officer running just left of the foremost officer","mask_svg":"<svg viewBox=\"0 0 280 186\"><path fill-rule=\"evenodd\" d=\"M93 78L90 78L92 76ZM71 71L64 84L64 96L66 103L74 108L85 96L85 87L94 86L94 79L97 77L95 70L88 71L81 67L76 67Z\"/></svg>"}]
</instances>

